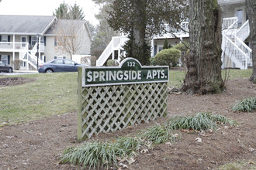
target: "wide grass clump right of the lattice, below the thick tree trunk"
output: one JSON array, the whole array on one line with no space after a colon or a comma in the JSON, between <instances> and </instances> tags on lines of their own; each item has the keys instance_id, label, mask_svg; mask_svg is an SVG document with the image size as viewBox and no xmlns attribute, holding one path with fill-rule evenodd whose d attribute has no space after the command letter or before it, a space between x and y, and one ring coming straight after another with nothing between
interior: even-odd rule
<instances>
[{"instance_id":1,"label":"wide grass clump right of the lattice, below the thick tree trunk","mask_svg":"<svg viewBox=\"0 0 256 170\"><path fill-rule=\"evenodd\" d=\"M195 116L188 117L172 117L168 121L170 129L191 129L195 131L213 129L216 130L217 123L233 125L234 121L221 115L213 115L210 113L198 113Z\"/></svg>"}]
</instances>

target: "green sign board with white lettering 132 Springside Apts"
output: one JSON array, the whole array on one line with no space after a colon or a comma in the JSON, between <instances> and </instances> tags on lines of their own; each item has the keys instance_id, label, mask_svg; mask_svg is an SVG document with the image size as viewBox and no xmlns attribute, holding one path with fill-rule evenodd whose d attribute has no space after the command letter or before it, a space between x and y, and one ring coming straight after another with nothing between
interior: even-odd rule
<instances>
[{"instance_id":1,"label":"green sign board with white lettering 132 Springside Apts","mask_svg":"<svg viewBox=\"0 0 256 170\"><path fill-rule=\"evenodd\" d=\"M168 66L141 66L137 59L127 58L120 66L83 67L82 87L168 82L168 70Z\"/></svg>"}]
</instances>

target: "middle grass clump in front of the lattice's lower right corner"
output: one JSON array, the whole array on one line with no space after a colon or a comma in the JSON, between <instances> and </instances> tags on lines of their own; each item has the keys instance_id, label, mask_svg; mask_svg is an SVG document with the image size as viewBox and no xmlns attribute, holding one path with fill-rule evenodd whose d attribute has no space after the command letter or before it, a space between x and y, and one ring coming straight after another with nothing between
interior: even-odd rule
<instances>
[{"instance_id":1,"label":"middle grass clump in front of the lattice's lower right corner","mask_svg":"<svg viewBox=\"0 0 256 170\"><path fill-rule=\"evenodd\" d=\"M170 129L159 125L154 125L147 128L147 130L141 131L141 138L145 138L146 141L152 141L154 144L161 144L168 141L175 142L177 140Z\"/></svg>"}]
</instances>

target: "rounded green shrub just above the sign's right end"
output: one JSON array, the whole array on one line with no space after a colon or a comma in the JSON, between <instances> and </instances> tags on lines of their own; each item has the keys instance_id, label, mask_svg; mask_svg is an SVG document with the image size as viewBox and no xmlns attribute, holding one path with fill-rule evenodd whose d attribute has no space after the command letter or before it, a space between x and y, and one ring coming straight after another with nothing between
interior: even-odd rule
<instances>
[{"instance_id":1,"label":"rounded green shrub just above the sign's right end","mask_svg":"<svg viewBox=\"0 0 256 170\"><path fill-rule=\"evenodd\" d=\"M161 52L154 56L154 60L157 65L161 66L177 66L178 59L181 56L181 51L178 49L163 49Z\"/></svg>"}]
</instances>

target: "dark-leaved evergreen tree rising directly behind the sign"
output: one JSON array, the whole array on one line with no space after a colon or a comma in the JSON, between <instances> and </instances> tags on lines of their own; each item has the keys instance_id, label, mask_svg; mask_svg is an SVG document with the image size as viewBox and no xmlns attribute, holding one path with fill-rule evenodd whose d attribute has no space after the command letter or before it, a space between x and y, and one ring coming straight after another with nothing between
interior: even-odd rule
<instances>
[{"instance_id":1,"label":"dark-leaved evergreen tree rising directly behind the sign","mask_svg":"<svg viewBox=\"0 0 256 170\"><path fill-rule=\"evenodd\" d=\"M165 23L179 26L175 22L182 22L186 17L182 15L185 7L186 1L183 0L115 0L109 12L109 25L133 37L127 48L131 48L132 56L140 63L149 64L148 41L167 31Z\"/></svg>"}]
</instances>

